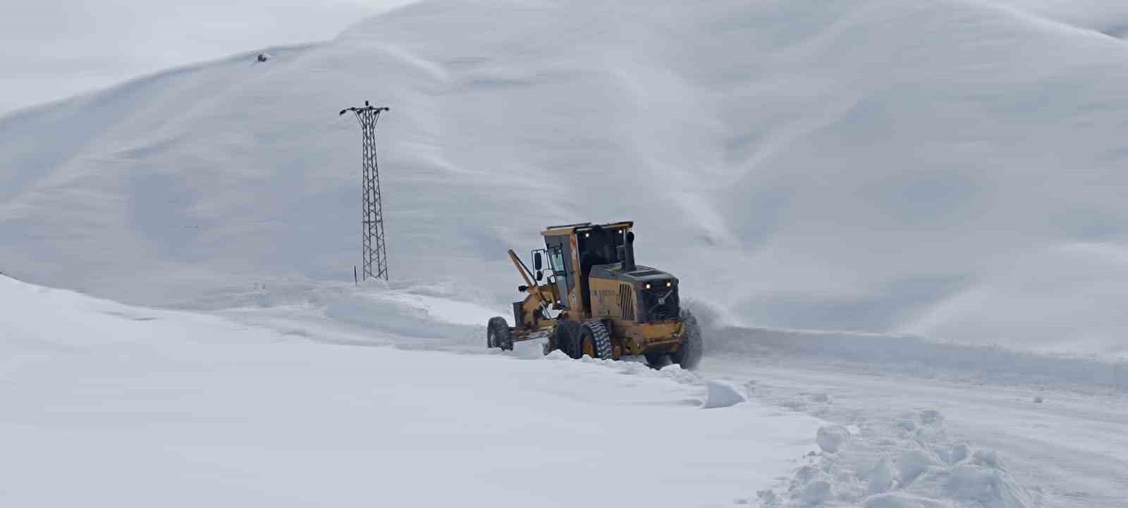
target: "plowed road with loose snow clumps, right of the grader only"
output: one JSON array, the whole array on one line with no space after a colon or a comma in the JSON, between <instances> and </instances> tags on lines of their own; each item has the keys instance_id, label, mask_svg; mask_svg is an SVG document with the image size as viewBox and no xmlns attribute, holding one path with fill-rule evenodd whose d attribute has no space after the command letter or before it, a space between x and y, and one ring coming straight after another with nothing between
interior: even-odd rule
<instances>
[{"instance_id":1,"label":"plowed road with loose snow clumps, right of the grader only","mask_svg":"<svg viewBox=\"0 0 1128 508\"><path fill-rule=\"evenodd\" d=\"M767 345L770 346L770 345ZM1119 508L1128 497L1128 398L1055 371L982 376L907 371L889 358L828 359L776 351L707 356L702 372L772 402L841 426L848 438L811 455L773 489L774 506ZM814 394L828 394L825 401ZM1037 394L1037 395L1034 395ZM1043 396L1043 403L1032 403ZM820 436L821 434L821 436ZM835 440L834 443L837 443ZM821 443L820 443L821 444ZM820 449L822 449L820 447ZM765 499L761 496L761 499ZM772 506L768 503L768 506Z\"/></svg>"}]
</instances>

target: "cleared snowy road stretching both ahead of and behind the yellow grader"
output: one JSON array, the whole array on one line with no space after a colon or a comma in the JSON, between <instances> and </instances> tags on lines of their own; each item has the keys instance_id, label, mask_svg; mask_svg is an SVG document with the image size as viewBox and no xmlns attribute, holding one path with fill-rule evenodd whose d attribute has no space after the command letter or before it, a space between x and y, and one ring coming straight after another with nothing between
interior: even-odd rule
<instances>
[{"instance_id":1,"label":"cleared snowy road stretching both ahead of and behind the yellow grader","mask_svg":"<svg viewBox=\"0 0 1128 508\"><path fill-rule=\"evenodd\" d=\"M433 287L284 293L277 300L306 303L224 315L314 341L500 355L483 347L481 324L497 312L433 296ZM1128 499L1123 364L879 335L707 337L704 377L849 427L837 453L810 456L775 482L759 500L766 506L1122 508ZM525 346L511 355L540 357L539 345Z\"/></svg>"}]
</instances>

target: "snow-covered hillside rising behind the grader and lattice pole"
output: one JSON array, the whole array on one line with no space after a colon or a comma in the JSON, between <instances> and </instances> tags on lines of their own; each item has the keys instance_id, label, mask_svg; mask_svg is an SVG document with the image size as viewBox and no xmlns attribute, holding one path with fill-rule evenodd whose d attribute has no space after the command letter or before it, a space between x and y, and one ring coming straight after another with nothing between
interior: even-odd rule
<instances>
[{"instance_id":1,"label":"snow-covered hillside rising behind the grader and lattice pole","mask_svg":"<svg viewBox=\"0 0 1128 508\"><path fill-rule=\"evenodd\" d=\"M505 248L633 219L640 260L738 323L1122 350L1128 45L1059 14L420 2L265 64L0 121L0 270L209 306L347 279L359 134L336 112L369 98L393 108L379 142L402 280L503 303Z\"/></svg>"}]
</instances>

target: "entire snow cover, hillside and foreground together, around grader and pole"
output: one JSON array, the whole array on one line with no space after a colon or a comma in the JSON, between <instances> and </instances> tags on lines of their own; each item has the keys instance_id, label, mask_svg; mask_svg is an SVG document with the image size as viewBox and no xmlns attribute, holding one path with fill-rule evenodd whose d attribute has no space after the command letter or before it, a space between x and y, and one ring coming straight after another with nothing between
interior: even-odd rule
<instances>
[{"instance_id":1,"label":"entire snow cover, hillside and foreground together, around grader and pole","mask_svg":"<svg viewBox=\"0 0 1128 508\"><path fill-rule=\"evenodd\" d=\"M0 277L0 501L1121 508L1125 26L438 0L0 118L0 270L97 296ZM506 248L623 219L698 369L484 348Z\"/></svg>"}]
</instances>

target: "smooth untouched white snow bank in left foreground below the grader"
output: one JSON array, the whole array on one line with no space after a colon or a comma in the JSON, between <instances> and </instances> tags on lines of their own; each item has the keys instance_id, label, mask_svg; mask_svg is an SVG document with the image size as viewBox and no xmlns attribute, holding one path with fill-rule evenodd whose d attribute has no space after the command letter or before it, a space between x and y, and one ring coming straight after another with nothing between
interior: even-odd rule
<instances>
[{"instance_id":1,"label":"smooth untouched white snow bank in left foreground below the grader","mask_svg":"<svg viewBox=\"0 0 1128 508\"><path fill-rule=\"evenodd\" d=\"M5 506L726 506L820 425L703 411L676 368L326 345L6 277L0 301Z\"/></svg>"}]
</instances>

